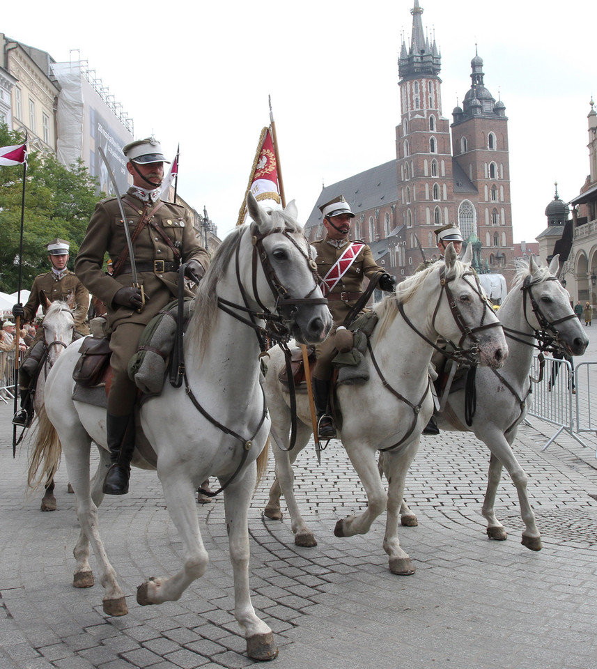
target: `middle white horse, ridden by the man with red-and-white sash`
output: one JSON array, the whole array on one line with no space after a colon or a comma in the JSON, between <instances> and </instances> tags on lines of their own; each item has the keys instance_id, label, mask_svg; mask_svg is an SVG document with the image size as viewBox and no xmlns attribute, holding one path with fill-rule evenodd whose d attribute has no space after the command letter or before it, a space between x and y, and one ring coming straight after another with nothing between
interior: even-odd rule
<instances>
[{"instance_id":1,"label":"middle white horse, ridden by the man with red-and-white sash","mask_svg":"<svg viewBox=\"0 0 597 669\"><path fill-rule=\"evenodd\" d=\"M465 256L470 260L470 254ZM486 302L469 266L456 259L449 245L444 261L409 277L373 307L379 323L365 356L369 381L364 385L339 385L336 395L341 409L339 437L348 452L368 498L367 509L358 516L338 521L334 534L350 537L365 534L373 520L387 509L383 546L394 574L412 574L412 561L398 542L398 511L404 481L417 453L421 431L433 413L428 365L437 337L456 341L455 348L475 348L481 364L499 367L507 355L502 327ZM476 353L474 354L476 355ZM284 493L292 519L295 544L314 546L293 493L292 463L311 436L311 417L306 394L297 394L295 447L288 451L290 396L278 374L284 364L279 348L271 352L265 377L265 394L272 415L276 456L276 480L265 509L269 518L281 518L280 494ZM385 452L386 493L375 455Z\"/></svg>"}]
</instances>

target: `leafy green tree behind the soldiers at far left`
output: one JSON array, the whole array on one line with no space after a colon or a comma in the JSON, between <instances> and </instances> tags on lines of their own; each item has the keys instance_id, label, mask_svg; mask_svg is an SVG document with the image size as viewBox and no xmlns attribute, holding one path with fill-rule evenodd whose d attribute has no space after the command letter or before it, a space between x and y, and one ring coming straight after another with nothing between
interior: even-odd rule
<instances>
[{"instance_id":1,"label":"leafy green tree behind the soldiers at far left","mask_svg":"<svg viewBox=\"0 0 597 669\"><path fill-rule=\"evenodd\" d=\"M0 125L0 146L22 144L24 137ZM0 291L18 289L22 174L20 166L0 167ZM27 160L22 257L22 289L48 271L45 245L59 237L70 242L74 267L98 196L99 183L82 160L65 167L53 154L30 153Z\"/></svg>"}]
</instances>

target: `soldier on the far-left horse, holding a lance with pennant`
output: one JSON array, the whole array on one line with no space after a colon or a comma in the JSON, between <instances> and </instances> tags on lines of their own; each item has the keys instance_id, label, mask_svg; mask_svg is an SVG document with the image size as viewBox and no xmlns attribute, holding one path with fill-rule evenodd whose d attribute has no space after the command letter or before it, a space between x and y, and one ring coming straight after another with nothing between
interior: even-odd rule
<instances>
[{"instance_id":1,"label":"soldier on the far-left horse, holding a lance with pennant","mask_svg":"<svg viewBox=\"0 0 597 669\"><path fill-rule=\"evenodd\" d=\"M23 307L22 304L17 304L13 307L13 315L15 318L20 316L21 321L33 321L36 317L38 308L42 307L43 313L47 312L47 307L50 302L55 300L63 300L66 302L72 295L75 296L75 310L72 314L75 321L75 330L79 334L89 334L89 326L86 322L87 309L89 307L89 293L85 286L77 279L75 272L71 272L66 268L69 259L70 242L64 239L53 239L46 244L47 259L52 266L52 270L40 274L33 279L31 286L31 293L29 300ZM23 360L23 364L28 360L33 351L33 347L43 338L43 328L38 328L36 337L33 339L33 344L29 347ZM27 369L25 371L23 365L19 369L19 386L21 395L21 409L17 411L13 418L13 424L29 427L33 420L33 387L31 385L31 377L35 371L36 365L32 360L29 360ZM33 364L32 364L33 363Z\"/></svg>"}]
</instances>

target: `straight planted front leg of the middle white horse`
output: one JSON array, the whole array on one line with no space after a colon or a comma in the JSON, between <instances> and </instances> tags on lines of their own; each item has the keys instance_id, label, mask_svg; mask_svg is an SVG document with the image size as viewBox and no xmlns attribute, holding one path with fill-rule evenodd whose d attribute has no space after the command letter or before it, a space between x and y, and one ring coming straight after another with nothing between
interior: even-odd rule
<instances>
[{"instance_id":1,"label":"straight planted front leg of the middle white horse","mask_svg":"<svg viewBox=\"0 0 597 669\"><path fill-rule=\"evenodd\" d=\"M400 516L403 501L404 484L410 463L419 448L417 438L406 447L396 452L387 451L384 454L384 472L388 480L386 527L384 536L384 551L389 556L389 570L392 574L410 576L414 574L414 565L408 553L403 551L398 540L398 516ZM409 509L410 511L410 509Z\"/></svg>"}]
</instances>

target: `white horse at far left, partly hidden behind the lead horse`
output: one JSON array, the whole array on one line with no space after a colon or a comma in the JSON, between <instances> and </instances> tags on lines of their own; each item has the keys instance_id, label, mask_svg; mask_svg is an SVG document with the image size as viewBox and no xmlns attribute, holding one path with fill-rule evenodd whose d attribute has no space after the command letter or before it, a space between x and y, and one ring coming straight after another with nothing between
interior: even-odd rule
<instances>
[{"instance_id":1,"label":"white horse at far left, partly hidden behind the lead horse","mask_svg":"<svg viewBox=\"0 0 597 669\"><path fill-rule=\"evenodd\" d=\"M36 390L33 397L33 409L36 416L39 417L39 422L34 425L41 424L46 420L44 393L45 380L52 369L58 356L67 348L72 338L75 336L75 318L72 315L75 309L75 293L63 302L56 300L50 302L46 298L46 313L40 327L43 330L42 346L43 354L39 361L38 378L36 382ZM45 481L45 493L41 501L41 511L56 511L56 498L54 497L54 474L59 466L60 455L56 457L56 453L52 454L52 466L48 466L45 458L49 456L49 450L43 444L39 444L38 440L42 438L40 431L34 433L36 446L31 454L29 462L29 471L27 475L27 483L33 490L37 490L42 482ZM37 477L37 472L42 470L45 476Z\"/></svg>"}]
</instances>

